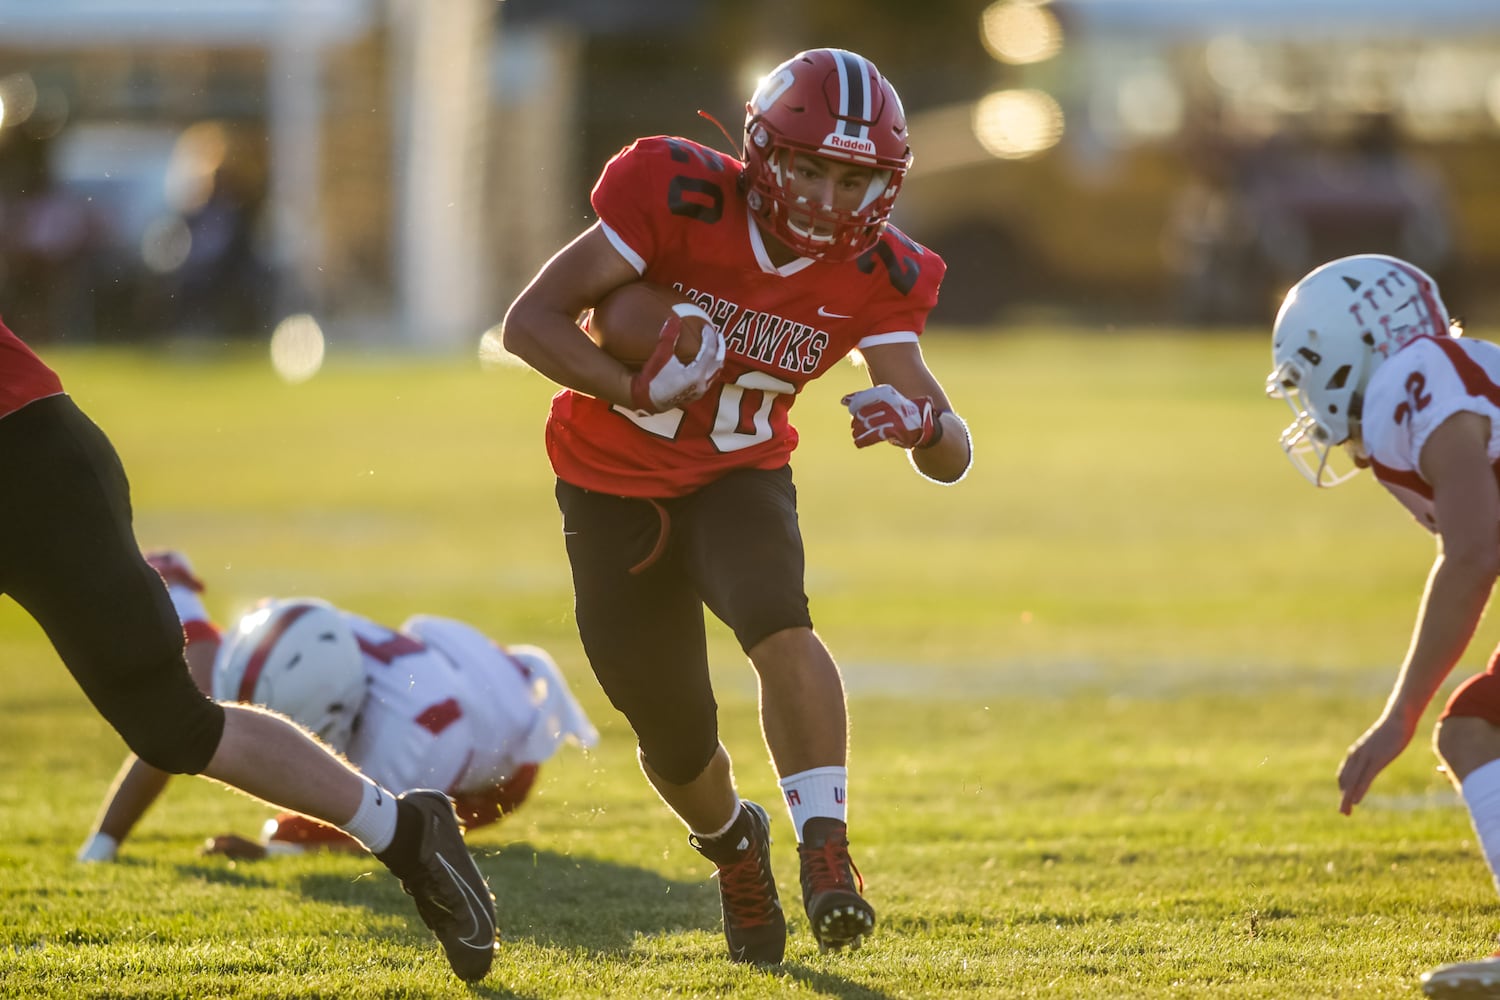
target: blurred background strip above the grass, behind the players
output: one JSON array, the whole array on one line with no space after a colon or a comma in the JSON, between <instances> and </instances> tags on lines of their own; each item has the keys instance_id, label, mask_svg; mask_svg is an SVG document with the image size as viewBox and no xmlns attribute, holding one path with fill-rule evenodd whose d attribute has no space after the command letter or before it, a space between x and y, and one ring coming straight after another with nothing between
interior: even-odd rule
<instances>
[{"instance_id":1,"label":"blurred background strip above the grass, behind the players","mask_svg":"<svg viewBox=\"0 0 1500 1000\"><path fill-rule=\"evenodd\" d=\"M0 0L0 307L470 351L609 156L818 45L904 99L938 322L1263 328L1362 250L1500 306L1496 0Z\"/></svg>"}]
</instances>

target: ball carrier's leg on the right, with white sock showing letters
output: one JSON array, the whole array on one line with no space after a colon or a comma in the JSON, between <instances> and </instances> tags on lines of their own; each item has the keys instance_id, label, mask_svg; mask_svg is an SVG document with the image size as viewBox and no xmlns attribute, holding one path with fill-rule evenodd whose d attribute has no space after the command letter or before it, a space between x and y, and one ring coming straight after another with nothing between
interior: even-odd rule
<instances>
[{"instance_id":1,"label":"ball carrier's leg on the right, with white sock showing letters","mask_svg":"<svg viewBox=\"0 0 1500 1000\"><path fill-rule=\"evenodd\" d=\"M681 520L688 571L760 681L760 724L796 832L813 934L824 949L858 946L874 909L849 858L843 681L807 612L790 471L730 472L696 493Z\"/></svg>"}]
</instances>

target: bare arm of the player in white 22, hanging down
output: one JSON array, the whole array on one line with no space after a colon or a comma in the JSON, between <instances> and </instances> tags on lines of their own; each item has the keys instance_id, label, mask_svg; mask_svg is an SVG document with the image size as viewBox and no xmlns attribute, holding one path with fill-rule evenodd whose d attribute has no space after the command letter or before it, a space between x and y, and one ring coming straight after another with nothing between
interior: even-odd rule
<instances>
[{"instance_id":1,"label":"bare arm of the player in white 22, hanging down","mask_svg":"<svg viewBox=\"0 0 1500 1000\"><path fill-rule=\"evenodd\" d=\"M1443 679L1464 655L1500 573L1500 486L1490 465L1490 420L1458 412L1428 436L1419 459L1432 487L1437 558L1418 606L1412 645L1384 711L1340 769L1348 813L1412 741Z\"/></svg>"}]
</instances>

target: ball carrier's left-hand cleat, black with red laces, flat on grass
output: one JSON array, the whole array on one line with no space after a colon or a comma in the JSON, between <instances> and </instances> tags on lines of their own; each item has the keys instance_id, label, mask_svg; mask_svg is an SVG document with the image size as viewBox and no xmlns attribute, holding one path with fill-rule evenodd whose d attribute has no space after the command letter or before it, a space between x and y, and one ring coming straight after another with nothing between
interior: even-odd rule
<instances>
[{"instance_id":1,"label":"ball carrier's left-hand cleat, black with red laces, flat on grass","mask_svg":"<svg viewBox=\"0 0 1500 1000\"><path fill-rule=\"evenodd\" d=\"M723 837L688 843L718 867L718 901L724 910L729 960L756 966L780 964L786 954L786 915L771 876L771 817L754 802L742 802Z\"/></svg>"}]
</instances>

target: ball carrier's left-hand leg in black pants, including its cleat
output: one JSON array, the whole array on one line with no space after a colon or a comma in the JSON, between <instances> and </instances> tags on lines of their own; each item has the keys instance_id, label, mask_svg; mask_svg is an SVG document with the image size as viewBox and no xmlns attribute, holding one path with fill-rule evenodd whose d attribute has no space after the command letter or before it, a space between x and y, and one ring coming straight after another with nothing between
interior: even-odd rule
<instances>
[{"instance_id":1,"label":"ball carrier's left-hand leg in black pants, including its cleat","mask_svg":"<svg viewBox=\"0 0 1500 1000\"><path fill-rule=\"evenodd\" d=\"M650 501L558 483L579 637L610 703L639 741L640 769L718 868L729 957L780 963L786 918L770 825L741 802L708 675L704 609L684 577L675 525Z\"/></svg>"}]
</instances>

